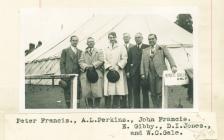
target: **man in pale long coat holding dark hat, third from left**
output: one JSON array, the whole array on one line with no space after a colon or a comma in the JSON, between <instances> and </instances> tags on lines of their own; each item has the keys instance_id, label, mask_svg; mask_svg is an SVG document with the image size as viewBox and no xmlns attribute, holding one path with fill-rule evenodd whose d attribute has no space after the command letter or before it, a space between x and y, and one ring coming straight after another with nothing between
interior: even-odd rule
<instances>
[{"instance_id":1,"label":"man in pale long coat holding dark hat, third from left","mask_svg":"<svg viewBox=\"0 0 224 140\"><path fill-rule=\"evenodd\" d=\"M127 51L117 43L115 32L108 34L109 45L105 48L104 95L106 107L119 108L120 100L128 94L125 66Z\"/></svg>"}]
</instances>

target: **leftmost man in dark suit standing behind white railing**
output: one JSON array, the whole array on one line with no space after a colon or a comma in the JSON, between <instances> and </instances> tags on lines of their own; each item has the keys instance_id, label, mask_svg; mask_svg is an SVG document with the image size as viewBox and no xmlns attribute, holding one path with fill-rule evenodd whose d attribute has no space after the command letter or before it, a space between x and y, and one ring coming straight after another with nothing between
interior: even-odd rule
<instances>
[{"instance_id":1,"label":"leftmost man in dark suit standing behind white railing","mask_svg":"<svg viewBox=\"0 0 224 140\"><path fill-rule=\"evenodd\" d=\"M79 58L81 56L81 50L77 48L78 44L78 37L71 36L70 43L71 45L62 50L61 59L60 59L60 71L61 74L79 74L80 73L80 66L79 66ZM63 79L67 84L64 87L64 97L66 101L66 105L70 108L70 99L71 99L71 80L70 79ZM80 98L80 81L78 78L78 99Z\"/></svg>"}]
</instances>

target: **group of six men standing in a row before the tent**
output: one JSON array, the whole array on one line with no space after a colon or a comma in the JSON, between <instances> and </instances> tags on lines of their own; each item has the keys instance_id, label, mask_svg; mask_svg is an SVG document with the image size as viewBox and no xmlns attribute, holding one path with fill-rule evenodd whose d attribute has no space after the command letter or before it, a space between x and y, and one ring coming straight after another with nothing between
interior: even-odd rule
<instances>
[{"instance_id":1,"label":"group of six men standing in a row before the tent","mask_svg":"<svg viewBox=\"0 0 224 140\"><path fill-rule=\"evenodd\" d=\"M153 108L160 108L162 73L167 70L165 58L168 60L172 72L177 71L168 49L157 44L155 34L148 35L149 44L143 43L141 33L136 33L135 45L130 43L131 37L128 33L123 34L123 45L119 45L116 38L115 32L109 33L109 45L104 51L99 51L94 47L94 38L89 37L86 50L81 52L77 48L78 37L72 36L70 38L71 46L64 49L61 54L61 73L80 75L78 98L87 99L87 104L91 107L99 108L100 99L105 96L106 107L140 108L140 93L142 93L143 108L151 107L149 106L149 95L151 95ZM86 71L92 68L96 69L99 75L96 83L91 83L86 78ZM120 79L116 83L111 83L106 79L109 70L116 70L120 74ZM70 85L69 80L66 82ZM65 88L64 93L69 107L70 86Z\"/></svg>"}]
</instances>

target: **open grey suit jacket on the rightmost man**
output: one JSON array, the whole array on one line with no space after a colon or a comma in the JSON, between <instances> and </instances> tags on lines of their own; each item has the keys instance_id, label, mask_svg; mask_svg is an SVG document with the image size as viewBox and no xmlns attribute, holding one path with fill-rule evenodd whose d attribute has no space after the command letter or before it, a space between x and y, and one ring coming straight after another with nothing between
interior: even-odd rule
<instances>
[{"instance_id":1,"label":"open grey suit jacket on the rightmost man","mask_svg":"<svg viewBox=\"0 0 224 140\"><path fill-rule=\"evenodd\" d=\"M145 75L145 77L148 77L149 74L151 74L151 71L149 69L149 63L150 63L150 50L151 48L146 48L142 52L142 62L141 62L141 75ZM162 77L163 71L167 70L167 66L165 63L165 58L168 60L171 67L176 66L173 57L169 53L168 49L166 47L156 46L156 52L153 57L153 63L155 67L156 73Z\"/></svg>"}]
</instances>

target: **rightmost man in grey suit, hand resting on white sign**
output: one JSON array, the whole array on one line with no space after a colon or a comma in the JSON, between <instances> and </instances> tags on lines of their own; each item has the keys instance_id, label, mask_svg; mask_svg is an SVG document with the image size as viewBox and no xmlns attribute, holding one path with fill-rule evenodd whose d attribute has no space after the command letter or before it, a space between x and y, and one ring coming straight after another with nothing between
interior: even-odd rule
<instances>
[{"instance_id":1,"label":"rightmost man in grey suit, hand resting on white sign","mask_svg":"<svg viewBox=\"0 0 224 140\"><path fill-rule=\"evenodd\" d=\"M154 108L162 105L162 75L167 70L165 58L168 60L172 72L177 71L176 64L166 47L157 45L157 36L148 35L149 48L143 50L141 61L141 79L149 81L151 98Z\"/></svg>"}]
</instances>

